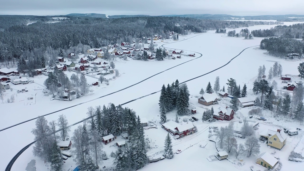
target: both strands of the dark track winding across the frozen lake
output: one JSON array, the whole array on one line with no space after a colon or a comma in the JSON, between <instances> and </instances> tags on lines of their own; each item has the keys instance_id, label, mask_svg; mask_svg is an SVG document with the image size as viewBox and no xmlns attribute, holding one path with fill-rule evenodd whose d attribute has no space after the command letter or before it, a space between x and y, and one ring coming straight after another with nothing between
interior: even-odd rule
<instances>
[{"instance_id":1,"label":"both strands of the dark track winding across the frozen lake","mask_svg":"<svg viewBox=\"0 0 304 171\"><path fill-rule=\"evenodd\" d=\"M199 34L199 35L201 35L201 34ZM196 36L199 36L199 35L196 35ZM196 36L194 36L194 37L196 37ZM190 38L193 38L193 37L190 37ZM188 39L190 39L190 38L188 38ZM184 39L184 40L188 40L188 39ZM181 41L184 41L184 40L181 40ZM180 41L177 41L177 42L180 42ZM167 43L167 44L172 44L172 43L175 43L175 42L171 42L171 43ZM164 47L164 45L166 45L166 44L163 44L161 47ZM259 45L257 45L257 46L259 46ZM256 47L256 46L251 46L251 47ZM189 81L191 81L191 80L197 79L197 78L199 78L199 77L202 77L202 76L204 76L204 75L210 74L210 73L212 73L212 72L214 72L214 71L216 71L216 70L218 70L218 69L220 69L220 68L225 67L225 66L228 65L232 60L234 60L235 58L237 58L242 52L244 52L246 49L251 48L251 47L245 48L245 49L244 49L243 51L241 51L237 56L233 57L230 61L228 61L225 65L223 65L223 66L221 66L221 67L219 67L219 68L216 68L216 69L214 69L214 70L212 70L212 71L210 71L210 72L207 72L207 73L205 73L205 74L203 74L203 75L200 75L200 76L197 76L197 77L195 77L195 78L189 79L189 80L187 80L187 81L181 82L180 84L183 84L183 83L185 83L185 82L189 82ZM167 47L164 47L164 48L167 48ZM169 48L169 49L172 49L172 48ZM178 50L183 50L183 49L178 49ZM184 51L186 51L186 50L184 50ZM194 51L191 51L191 52L194 52ZM185 63L187 63L187 62L190 62L190 61L193 61L193 60L195 60L195 59L198 59L198 58L201 58L201 57L202 57L202 54L201 54L201 53L199 53L199 52L195 52L195 53L200 54L200 56L197 57L197 58L191 59L191 60L189 60L189 61L183 62L183 63L181 63L181 64L179 64L179 65L183 65L183 64L185 64ZM60 110L57 110L57 111L54 111L54 112L51 112L51 113L47 113L47 114L42 115L42 116L47 116L47 115L50 115L50 114L53 114L53 113L57 113L57 112L59 112L59 111L66 110L66 109L72 108L72 107L74 107L74 106L78 106L78 105L81 105L81 104L84 104L84 103L88 103L88 102L91 102L91 101L93 101L93 100L100 99L100 98L103 98L103 97L105 97L105 96L109 96L109 95L114 94L114 93L116 93L116 92L123 91L123 90L128 89L128 88L130 88L130 87L132 87L132 86L134 86L134 85L137 85L137 84L139 84L139 83L141 83L141 82L143 82L143 81L146 81L147 79L150 79L150 78L154 77L155 75L161 74L161 73L163 73L163 72L165 72L165 71L168 71L168 70L170 70L170 69L172 69L172 68L175 68L175 67L177 67L177 66L179 66L179 65L176 65L176 66L173 66L173 67L171 67L171 68L168 68L168 69L166 69L166 70L164 70L164 71L162 71L162 72L159 72L159 73L157 73L157 74L154 74L154 75L152 75L152 76L150 76L150 77L148 77L148 78L146 78L146 79L144 79L144 80L142 80L142 81L140 81L140 82L137 82L137 83L135 83L135 84L133 84L133 85L130 85L130 86L128 86L128 87L126 87L126 88L123 88L123 89L120 89L120 90L118 90L118 91L109 93L109 94L104 95L104 96L100 96L100 97L98 97L98 98L95 98L95 99L92 99L92 100L89 100L89 101L86 101L86 102L78 103L78 104L76 104L76 105L69 106L69 107L66 107L66 108L64 108L64 109L60 109ZM160 92L160 90L157 91L157 92ZM157 93L157 92L152 92L152 93L147 94L147 95L145 95L145 96L142 96L142 97L139 97L139 98L130 100L130 101L126 102L126 103L121 104L121 106L122 106L122 105L125 105L125 104L128 104L128 103L131 103L131 102L133 102L133 101L135 101L135 100L138 100L138 99L141 99L141 98L150 96L150 95L155 94L155 93ZM93 117L95 117L95 115L94 115ZM31 121L31 120L35 120L35 119L37 119L37 118L38 118L38 117L35 117L35 118L32 118L32 119L29 119L29 120L20 122L20 123L18 123L18 124L15 124L15 125L6 127L6 128L4 128L4 129L1 129L0 131L4 131L4 130L9 129L9 128L11 128L11 127L15 127L15 126L17 126L17 125L20 125L20 124L29 122L29 121ZM68 127L71 127L71 126L74 126L74 125L76 125L76 124L79 124L79 123L81 123L81 122L83 122L83 121L85 121L85 120L88 120L88 119L90 119L90 118L91 118L91 117L87 117L87 118L85 118L85 119L83 119L83 120L78 121L77 123L74 123L74 124L69 125ZM59 131L61 131L61 130L57 130L56 132L59 132ZM206 130L204 129L204 131L206 131ZM192 139L192 138L191 138L191 139ZM9 164L8 164L7 167L5 168L5 171L10 171L11 168L12 168L12 166L13 166L13 164L14 164L14 162L16 161L16 159L17 159L17 158L18 158L18 157L19 157L27 148L29 148L29 147L30 147L31 145L33 145L34 143L35 143L35 141L32 142L32 143L30 143L29 145L25 146L24 148L22 148L22 149L13 157L13 159L9 162Z\"/></svg>"}]
</instances>

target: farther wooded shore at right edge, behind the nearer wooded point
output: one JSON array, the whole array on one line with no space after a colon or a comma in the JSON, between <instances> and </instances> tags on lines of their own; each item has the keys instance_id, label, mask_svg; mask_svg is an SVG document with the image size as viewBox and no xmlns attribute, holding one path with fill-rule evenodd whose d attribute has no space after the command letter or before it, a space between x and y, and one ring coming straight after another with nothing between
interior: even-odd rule
<instances>
[{"instance_id":1,"label":"farther wooded shore at right edge, behind the nearer wooded point","mask_svg":"<svg viewBox=\"0 0 304 171\"><path fill-rule=\"evenodd\" d=\"M252 30L251 33L254 37L272 37L279 36L283 38L304 39L304 23L293 25L278 25L271 29Z\"/></svg>"}]
</instances>

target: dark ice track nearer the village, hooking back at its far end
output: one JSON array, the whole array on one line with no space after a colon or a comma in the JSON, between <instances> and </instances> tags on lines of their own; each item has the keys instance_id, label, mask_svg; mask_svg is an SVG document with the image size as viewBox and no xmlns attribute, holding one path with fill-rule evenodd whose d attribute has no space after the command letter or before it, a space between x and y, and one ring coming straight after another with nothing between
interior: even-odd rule
<instances>
[{"instance_id":1,"label":"dark ice track nearer the village, hooking back at its far end","mask_svg":"<svg viewBox=\"0 0 304 171\"><path fill-rule=\"evenodd\" d=\"M201 34L199 34L199 35L201 35ZM199 35L196 35L196 36L199 36ZM196 36L194 36L194 37L196 37ZM191 39L191 38L192 38L192 37L189 37L188 39ZM184 39L184 40L188 40L188 39ZM184 40L181 40L181 41L184 41ZM177 41L177 42L180 42L180 41ZM176 42L171 42L171 43L176 43ZM171 43L168 43L168 44L171 44ZM164 44L164 45L165 45L165 44ZM163 46L163 45L162 45L162 46ZM144 82L144 81L146 81L147 79L150 79L150 78L152 78L152 77L154 77L154 76L156 76L156 75L159 75L159 74L161 74L161 73L163 73L163 72L165 72L165 71L168 71L168 70L170 70L170 69L172 69L172 68L175 68L175 67L177 67L177 66L179 66L179 65L183 65L183 64L185 64L185 63L187 63L187 62L190 62L190 61L193 61L193 60L195 60L195 59L198 59L198 58L201 58L201 57L202 57L202 54L201 54L201 53L199 53L199 52L195 52L195 53L200 54L200 56L197 57L197 58L191 59L191 60L189 60L189 61L183 62L183 63L181 63L181 64L175 65L175 66L173 66L173 67L171 67L171 68L168 68L168 69L166 69L166 70L164 70L164 71L162 71L162 72L159 72L159 73L157 73L157 74L154 74L154 75L152 75L152 76L150 76L150 77L148 77L148 78L146 78L146 79L143 79L142 81L137 82L137 83L135 83L135 84L133 84L133 85L130 85L130 86L125 87L125 88L123 88L123 89L117 90L117 91L115 91L115 92L111 92L111 93L106 94L106 95L104 95L104 96L100 96L100 97L97 97L97 98L95 98L95 99L91 99L91 100L88 100L88 101L86 101L86 102L78 103L78 104L75 104L75 105L73 105L73 106L69 106L69 107L66 107L66 108L63 108L63 109L60 109L60 110L51 112L51 113L47 113L47 114L44 114L44 115L41 115L41 116L47 116L47 115L50 115L50 114L53 114L53 113L57 113L57 112L60 112L60 111L62 111L62 110L66 110L66 109L69 109L69 108L72 108L72 107L75 107L75 106L78 106L78 105L81 105L81 104L84 104L84 103L92 102L93 100L97 100L97 99L103 98L103 97L105 97L105 96L109 96L109 95L111 95L111 94L115 94L115 93L117 93L117 92L123 91L123 90L125 90L125 89L130 88L130 87L133 87L134 85L137 85L137 84L139 84L139 83L141 83L141 82ZM88 76L90 76L90 75L88 75ZM95 77L93 77L93 78L95 78ZM156 92L154 92L154 93L156 93ZM41 116L39 116L39 117L41 117ZM18 125L20 125L20 124L24 124L24 123L26 123L26 122L35 120L35 119L37 119L37 118L38 118L38 117L35 117L35 118L32 118L32 119L29 119L29 120L20 122L20 123L18 123L18 124L14 124L14 125L12 125L12 126L3 128L3 129L0 130L0 132L1 132L1 131L4 131L4 130L6 130L6 129L9 129L9 128L11 128L11 127L15 127L15 126L18 126Z\"/></svg>"}]
</instances>

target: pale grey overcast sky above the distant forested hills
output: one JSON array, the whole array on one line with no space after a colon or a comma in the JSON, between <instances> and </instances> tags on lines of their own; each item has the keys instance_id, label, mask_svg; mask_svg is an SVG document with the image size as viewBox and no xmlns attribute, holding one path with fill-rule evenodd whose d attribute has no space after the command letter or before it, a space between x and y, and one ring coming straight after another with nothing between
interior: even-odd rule
<instances>
[{"instance_id":1,"label":"pale grey overcast sky above the distant forested hills","mask_svg":"<svg viewBox=\"0 0 304 171\"><path fill-rule=\"evenodd\" d=\"M0 15L304 15L304 0L0 0Z\"/></svg>"}]
</instances>

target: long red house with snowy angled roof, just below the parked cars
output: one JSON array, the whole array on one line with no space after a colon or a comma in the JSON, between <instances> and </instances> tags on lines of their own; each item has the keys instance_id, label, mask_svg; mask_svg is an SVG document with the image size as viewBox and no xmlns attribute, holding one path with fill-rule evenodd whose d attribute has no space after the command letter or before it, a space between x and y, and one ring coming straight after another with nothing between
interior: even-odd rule
<instances>
[{"instance_id":1,"label":"long red house with snowy angled roof, just below the parked cars","mask_svg":"<svg viewBox=\"0 0 304 171\"><path fill-rule=\"evenodd\" d=\"M180 125L172 120L162 124L162 127L164 127L165 130L171 132L174 135L179 135L180 138L193 134L195 131L195 127L192 123Z\"/></svg>"}]
</instances>

